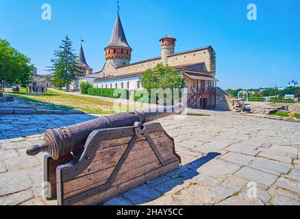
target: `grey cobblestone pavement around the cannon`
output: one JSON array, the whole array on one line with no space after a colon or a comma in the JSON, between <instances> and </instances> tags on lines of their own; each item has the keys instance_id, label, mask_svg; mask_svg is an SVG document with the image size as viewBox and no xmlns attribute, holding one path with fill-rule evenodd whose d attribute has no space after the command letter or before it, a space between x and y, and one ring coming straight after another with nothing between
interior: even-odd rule
<instances>
[{"instance_id":1,"label":"grey cobblestone pavement around the cannon","mask_svg":"<svg viewBox=\"0 0 300 219\"><path fill-rule=\"evenodd\" d=\"M204 112L160 120L182 166L103 205L300 205L300 124ZM0 116L0 205L55 205L42 196L45 129L92 115ZM255 198L255 185L257 192Z\"/></svg>"}]
</instances>

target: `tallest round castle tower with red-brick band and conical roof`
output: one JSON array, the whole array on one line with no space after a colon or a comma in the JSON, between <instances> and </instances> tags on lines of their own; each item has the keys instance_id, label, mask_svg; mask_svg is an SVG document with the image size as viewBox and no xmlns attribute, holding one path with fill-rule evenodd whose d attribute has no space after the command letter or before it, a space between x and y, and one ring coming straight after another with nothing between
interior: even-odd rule
<instances>
[{"instance_id":1,"label":"tallest round castle tower with red-brick band and conical roof","mask_svg":"<svg viewBox=\"0 0 300 219\"><path fill-rule=\"evenodd\" d=\"M110 43L104 50L106 62L110 62L116 68L126 66L132 60L132 48L126 40L119 14L116 16Z\"/></svg>"}]
</instances>

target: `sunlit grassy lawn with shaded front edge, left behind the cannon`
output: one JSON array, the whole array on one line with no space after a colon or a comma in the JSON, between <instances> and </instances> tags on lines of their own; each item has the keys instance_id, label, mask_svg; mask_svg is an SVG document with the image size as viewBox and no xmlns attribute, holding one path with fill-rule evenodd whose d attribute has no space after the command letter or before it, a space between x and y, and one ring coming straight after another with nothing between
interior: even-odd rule
<instances>
[{"instance_id":1,"label":"sunlit grassy lawn with shaded front edge, left behind the cannon","mask_svg":"<svg viewBox=\"0 0 300 219\"><path fill-rule=\"evenodd\" d=\"M45 95L26 94L25 89L21 88L20 94L10 94L16 99L24 101L27 105L38 109L49 110L80 110L88 114L113 114L116 112L126 112L133 108L117 107L111 101L103 101L85 96L74 96L53 92L48 90Z\"/></svg>"}]
</instances>

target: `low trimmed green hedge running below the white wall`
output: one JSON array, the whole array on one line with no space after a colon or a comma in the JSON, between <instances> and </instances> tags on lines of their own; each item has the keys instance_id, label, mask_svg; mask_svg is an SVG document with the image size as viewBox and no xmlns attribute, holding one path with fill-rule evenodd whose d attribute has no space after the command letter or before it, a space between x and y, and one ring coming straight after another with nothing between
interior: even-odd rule
<instances>
[{"instance_id":1,"label":"low trimmed green hedge running below the white wall","mask_svg":"<svg viewBox=\"0 0 300 219\"><path fill-rule=\"evenodd\" d=\"M88 94L109 98L129 99L129 90L116 88L88 88Z\"/></svg>"}]
</instances>

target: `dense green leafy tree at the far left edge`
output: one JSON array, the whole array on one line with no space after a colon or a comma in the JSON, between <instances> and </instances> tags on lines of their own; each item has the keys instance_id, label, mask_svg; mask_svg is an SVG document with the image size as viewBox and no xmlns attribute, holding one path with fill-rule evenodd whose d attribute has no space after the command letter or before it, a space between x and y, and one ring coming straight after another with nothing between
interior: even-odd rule
<instances>
[{"instance_id":1,"label":"dense green leafy tree at the far left edge","mask_svg":"<svg viewBox=\"0 0 300 219\"><path fill-rule=\"evenodd\" d=\"M29 57L19 53L7 40L0 39L0 80L27 86L32 81L34 66Z\"/></svg>"}]
</instances>

